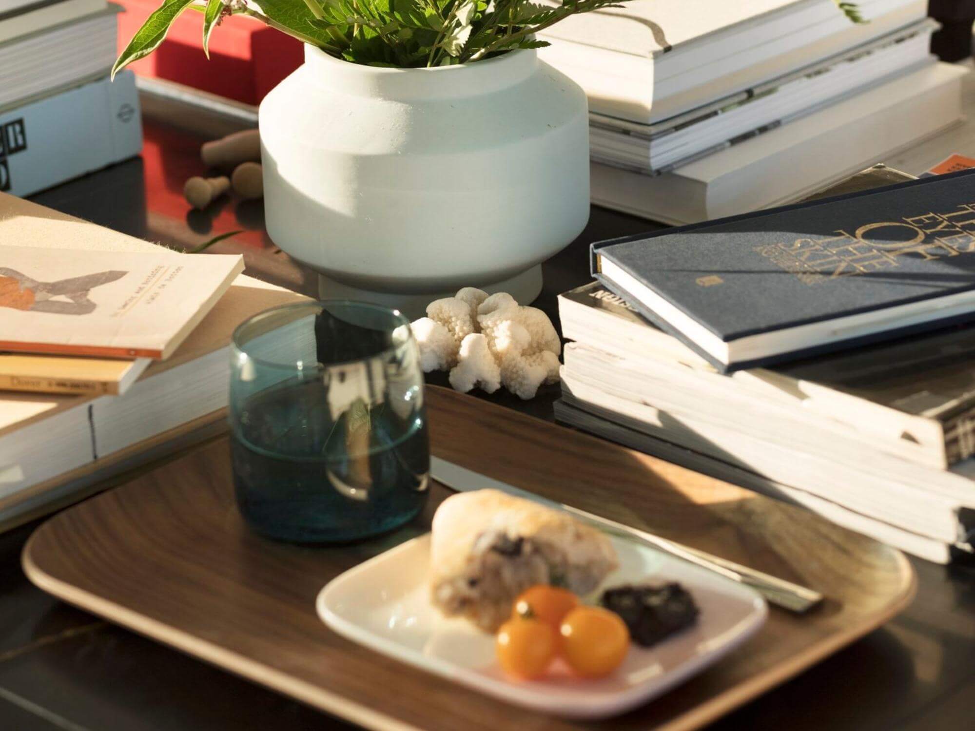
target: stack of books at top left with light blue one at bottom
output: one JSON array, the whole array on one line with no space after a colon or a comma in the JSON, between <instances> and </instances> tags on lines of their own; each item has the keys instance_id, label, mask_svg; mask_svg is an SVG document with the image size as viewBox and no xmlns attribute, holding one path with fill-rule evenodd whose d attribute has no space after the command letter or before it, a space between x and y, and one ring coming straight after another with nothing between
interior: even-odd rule
<instances>
[{"instance_id":1,"label":"stack of books at top left with light blue one at bottom","mask_svg":"<svg viewBox=\"0 0 975 731\"><path fill-rule=\"evenodd\" d=\"M0 6L0 191L29 195L138 154L135 77L111 83L119 7Z\"/></svg>"}]
</instances>

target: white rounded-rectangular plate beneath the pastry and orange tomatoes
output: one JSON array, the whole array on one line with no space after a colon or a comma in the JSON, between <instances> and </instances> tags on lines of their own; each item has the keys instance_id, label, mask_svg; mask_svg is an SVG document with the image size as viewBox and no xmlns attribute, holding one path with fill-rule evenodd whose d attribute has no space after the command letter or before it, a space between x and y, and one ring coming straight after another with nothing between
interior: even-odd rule
<instances>
[{"instance_id":1,"label":"white rounded-rectangular plate beneath the pastry and orange tomatoes","mask_svg":"<svg viewBox=\"0 0 975 731\"><path fill-rule=\"evenodd\" d=\"M629 711L717 662L761 627L767 608L748 587L670 558L636 541L611 538L620 567L605 587L679 581L700 609L697 623L650 648L631 645L607 677L574 677L561 661L537 680L502 673L494 638L430 603L430 534L414 538L334 578L318 595L319 617L339 635L508 703L570 718Z\"/></svg>"}]
</instances>

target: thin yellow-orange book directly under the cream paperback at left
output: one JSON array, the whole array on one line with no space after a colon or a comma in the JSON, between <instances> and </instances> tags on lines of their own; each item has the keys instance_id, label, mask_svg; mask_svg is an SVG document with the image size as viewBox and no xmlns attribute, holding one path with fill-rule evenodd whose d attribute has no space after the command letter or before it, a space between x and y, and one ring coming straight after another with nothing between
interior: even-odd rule
<instances>
[{"instance_id":1,"label":"thin yellow-orange book directly under the cream paperback at left","mask_svg":"<svg viewBox=\"0 0 975 731\"><path fill-rule=\"evenodd\" d=\"M120 396L129 390L148 358L81 358L0 354L0 390L42 394Z\"/></svg>"}]
</instances>

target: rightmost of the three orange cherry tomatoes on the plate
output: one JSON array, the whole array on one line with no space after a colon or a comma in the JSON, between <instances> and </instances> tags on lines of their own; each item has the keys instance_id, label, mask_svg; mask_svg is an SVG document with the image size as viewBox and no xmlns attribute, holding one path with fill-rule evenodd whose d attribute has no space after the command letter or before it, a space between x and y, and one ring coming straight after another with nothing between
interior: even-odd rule
<instances>
[{"instance_id":1,"label":"rightmost of the three orange cherry tomatoes on the plate","mask_svg":"<svg viewBox=\"0 0 975 731\"><path fill-rule=\"evenodd\" d=\"M562 656L583 677L602 677L623 662L630 649L630 631L615 612L599 606L570 611L560 628Z\"/></svg>"}]
</instances>

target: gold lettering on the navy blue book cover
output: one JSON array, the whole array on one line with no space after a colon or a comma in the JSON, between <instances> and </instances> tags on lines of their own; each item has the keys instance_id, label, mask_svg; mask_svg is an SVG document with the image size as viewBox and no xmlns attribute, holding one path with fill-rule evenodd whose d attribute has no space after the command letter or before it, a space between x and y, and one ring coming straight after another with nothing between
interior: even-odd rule
<instances>
[{"instance_id":1,"label":"gold lettering on the navy blue book cover","mask_svg":"<svg viewBox=\"0 0 975 731\"><path fill-rule=\"evenodd\" d=\"M975 252L975 204L864 223L825 238L763 244L755 251L810 286L882 273L900 266L904 256L931 261Z\"/></svg>"}]
</instances>

